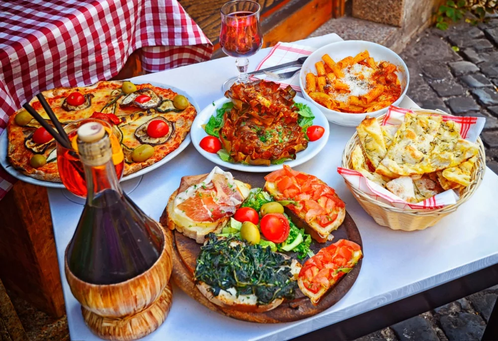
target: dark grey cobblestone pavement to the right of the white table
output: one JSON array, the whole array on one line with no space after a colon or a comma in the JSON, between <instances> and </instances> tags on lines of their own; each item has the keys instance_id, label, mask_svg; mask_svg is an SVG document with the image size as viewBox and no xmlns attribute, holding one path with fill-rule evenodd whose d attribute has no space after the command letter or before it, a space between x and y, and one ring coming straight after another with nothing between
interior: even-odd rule
<instances>
[{"instance_id":1,"label":"dark grey cobblestone pavement to the right of the white table","mask_svg":"<svg viewBox=\"0 0 498 341\"><path fill-rule=\"evenodd\" d=\"M452 47L457 46L455 52ZM426 109L486 117L486 163L498 173L498 18L447 31L429 28L401 54L410 72L408 96ZM357 341L481 340L498 285L428 311Z\"/></svg>"}]
</instances>

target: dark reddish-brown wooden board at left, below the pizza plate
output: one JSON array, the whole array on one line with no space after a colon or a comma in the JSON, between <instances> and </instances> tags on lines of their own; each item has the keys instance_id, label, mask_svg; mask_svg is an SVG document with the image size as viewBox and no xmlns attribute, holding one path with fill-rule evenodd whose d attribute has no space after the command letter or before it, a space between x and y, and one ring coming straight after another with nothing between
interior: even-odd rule
<instances>
[{"instance_id":1,"label":"dark reddish-brown wooden board at left, below the pizza plate","mask_svg":"<svg viewBox=\"0 0 498 341\"><path fill-rule=\"evenodd\" d=\"M22 181L0 202L0 278L54 317L65 314L47 189Z\"/></svg>"}]
</instances>

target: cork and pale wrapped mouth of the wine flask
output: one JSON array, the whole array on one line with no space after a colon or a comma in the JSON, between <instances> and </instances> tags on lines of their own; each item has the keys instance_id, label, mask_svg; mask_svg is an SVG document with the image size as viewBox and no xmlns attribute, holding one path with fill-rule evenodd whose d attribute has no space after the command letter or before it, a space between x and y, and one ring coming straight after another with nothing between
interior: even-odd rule
<instances>
[{"instance_id":1,"label":"cork and pale wrapped mouth of the wine flask","mask_svg":"<svg viewBox=\"0 0 498 341\"><path fill-rule=\"evenodd\" d=\"M111 160L111 140L102 124L89 122L78 128L78 152L88 166L101 166Z\"/></svg>"}]
</instances>

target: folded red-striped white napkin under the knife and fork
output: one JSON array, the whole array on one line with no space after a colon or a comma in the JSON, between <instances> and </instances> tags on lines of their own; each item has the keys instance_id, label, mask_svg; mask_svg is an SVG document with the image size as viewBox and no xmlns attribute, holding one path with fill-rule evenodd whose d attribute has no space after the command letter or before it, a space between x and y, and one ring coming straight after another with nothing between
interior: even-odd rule
<instances>
[{"instance_id":1,"label":"folded red-striped white napkin under the knife and fork","mask_svg":"<svg viewBox=\"0 0 498 341\"><path fill-rule=\"evenodd\" d=\"M275 46L273 46L270 53L261 61L261 63L259 63L254 71L295 61L298 58L309 56L315 50L315 48L309 46L279 42ZM275 71L275 73L282 73L296 69L297 67L294 66L287 69ZM279 83L281 88L285 88L290 85L294 90L299 92L301 91L301 87L299 86L299 73L286 80L276 80L274 78L267 77L264 74L250 76L251 81L256 81L258 79Z\"/></svg>"}]
</instances>

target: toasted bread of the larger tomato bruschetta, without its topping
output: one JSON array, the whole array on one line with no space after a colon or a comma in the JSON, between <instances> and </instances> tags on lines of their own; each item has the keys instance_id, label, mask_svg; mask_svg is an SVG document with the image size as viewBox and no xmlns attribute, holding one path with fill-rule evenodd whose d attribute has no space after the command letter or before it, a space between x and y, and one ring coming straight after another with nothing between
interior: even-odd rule
<instances>
[{"instance_id":1,"label":"toasted bread of the larger tomato bruschetta, without its topping","mask_svg":"<svg viewBox=\"0 0 498 341\"><path fill-rule=\"evenodd\" d=\"M318 181L326 185L325 182L322 180L318 179ZM268 182L264 184L264 190L270 193L270 195L274 198L278 198L281 193L279 192L278 188L276 187L275 183L273 182ZM337 194L334 194L336 197L339 198ZM346 217L346 209L344 207L336 207L337 210L337 218L334 220L332 224L329 224L325 227L322 227L318 224L316 221L312 221L311 223L307 223L305 219L306 213L304 211L301 211L299 213L294 212L288 207L285 207L285 213L289 215L292 218L292 221L296 226L300 229L304 229L304 231L311 236L314 240L316 240L319 243L325 243L332 231L335 231L341 226L341 224L344 221L344 218Z\"/></svg>"}]
</instances>

